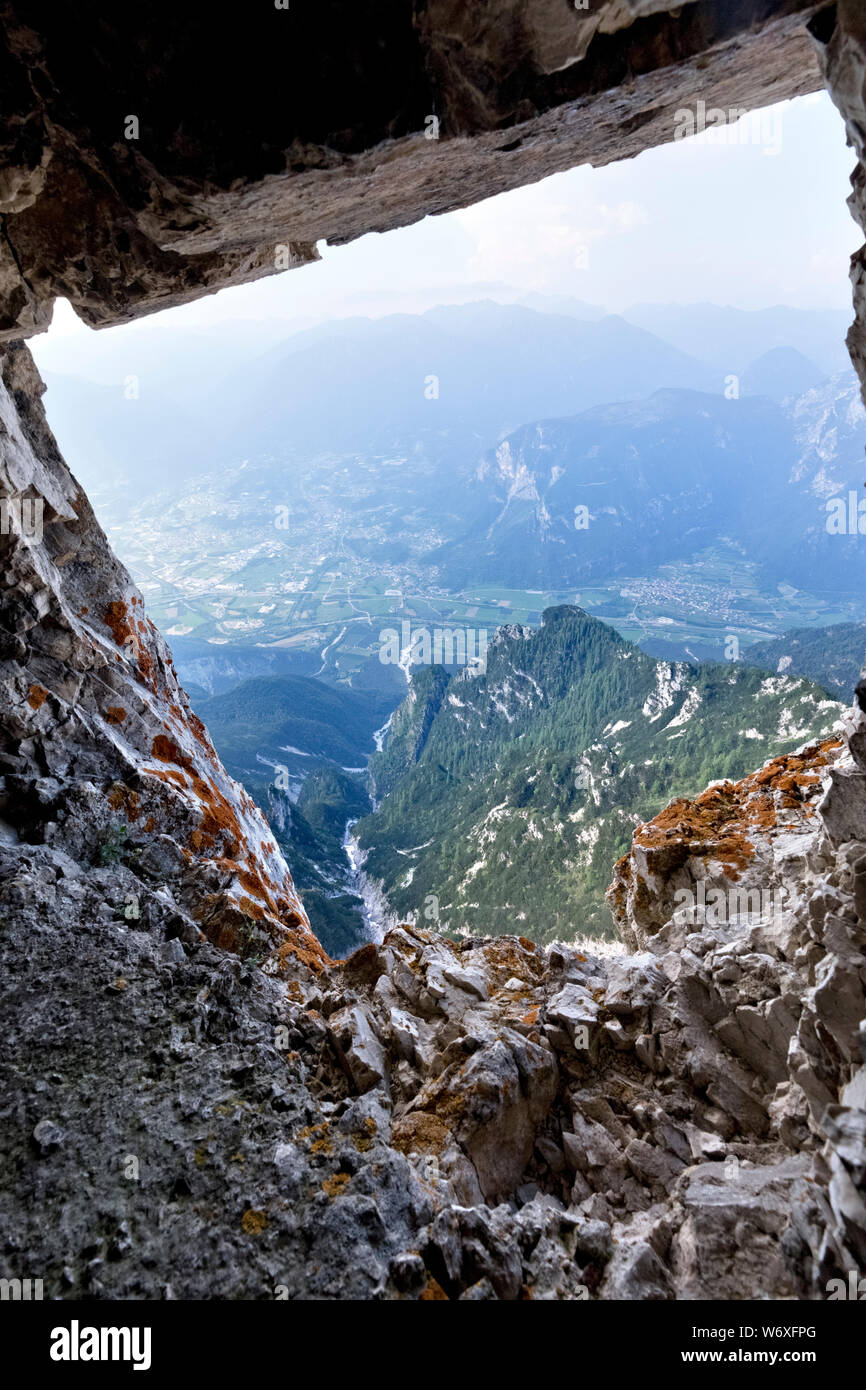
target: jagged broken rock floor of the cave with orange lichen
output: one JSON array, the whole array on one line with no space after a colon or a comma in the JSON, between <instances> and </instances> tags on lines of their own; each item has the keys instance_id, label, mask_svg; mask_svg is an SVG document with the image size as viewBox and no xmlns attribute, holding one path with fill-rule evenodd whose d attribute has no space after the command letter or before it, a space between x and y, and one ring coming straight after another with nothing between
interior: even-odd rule
<instances>
[{"instance_id":1,"label":"jagged broken rock floor of the cave with orange lichen","mask_svg":"<svg viewBox=\"0 0 866 1390\"><path fill-rule=\"evenodd\" d=\"M3 1273L53 1297L823 1298L866 1259L866 719L638 828L634 954L204 940L0 848ZM128 905L136 903L129 913Z\"/></svg>"}]
</instances>

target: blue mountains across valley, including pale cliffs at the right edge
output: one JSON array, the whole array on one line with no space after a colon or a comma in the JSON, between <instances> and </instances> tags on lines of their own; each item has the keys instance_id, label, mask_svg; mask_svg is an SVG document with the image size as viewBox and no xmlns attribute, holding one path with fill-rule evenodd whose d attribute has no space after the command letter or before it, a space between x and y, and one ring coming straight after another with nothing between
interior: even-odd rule
<instances>
[{"instance_id":1,"label":"blue mountains across valley, including pale cliffs at the right edge","mask_svg":"<svg viewBox=\"0 0 866 1390\"><path fill-rule=\"evenodd\" d=\"M780 366L767 368L776 381ZM826 503L863 495L865 441L852 373L788 409L767 395L660 391L524 424L481 456L466 489L471 524L430 559L457 588L580 587L653 573L724 538L770 587L853 589L865 548L827 531Z\"/></svg>"}]
</instances>

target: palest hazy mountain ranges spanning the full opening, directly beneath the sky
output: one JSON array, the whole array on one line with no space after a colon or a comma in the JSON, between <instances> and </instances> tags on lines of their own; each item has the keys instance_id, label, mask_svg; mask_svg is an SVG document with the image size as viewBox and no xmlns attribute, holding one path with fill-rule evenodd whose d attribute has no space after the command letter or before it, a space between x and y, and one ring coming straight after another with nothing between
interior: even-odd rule
<instances>
[{"instance_id":1,"label":"palest hazy mountain ranges spanning the full opening, directly beneath the sky","mask_svg":"<svg viewBox=\"0 0 866 1390\"><path fill-rule=\"evenodd\" d=\"M660 388L721 393L731 373L744 393L783 399L847 364L842 311L635 306L619 317L537 295L278 331L136 325L121 346L75 339L74 360L63 339L40 342L49 418L74 470L97 496L126 478L140 498L263 450L409 449L471 467L531 420Z\"/></svg>"}]
</instances>

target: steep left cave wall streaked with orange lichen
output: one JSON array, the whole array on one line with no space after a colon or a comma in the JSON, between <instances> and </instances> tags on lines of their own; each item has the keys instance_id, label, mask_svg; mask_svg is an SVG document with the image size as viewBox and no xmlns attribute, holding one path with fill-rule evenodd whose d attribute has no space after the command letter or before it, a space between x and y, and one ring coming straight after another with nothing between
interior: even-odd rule
<instances>
[{"instance_id":1,"label":"steep left cave wall streaked with orange lichen","mask_svg":"<svg viewBox=\"0 0 866 1390\"><path fill-rule=\"evenodd\" d=\"M242 955L324 952L274 835L225 773L165 642L70 474L24 343L0 357L0 831L175 885ZM138 920L139 905L118 903Z\"/></svg>"}]
</instances>

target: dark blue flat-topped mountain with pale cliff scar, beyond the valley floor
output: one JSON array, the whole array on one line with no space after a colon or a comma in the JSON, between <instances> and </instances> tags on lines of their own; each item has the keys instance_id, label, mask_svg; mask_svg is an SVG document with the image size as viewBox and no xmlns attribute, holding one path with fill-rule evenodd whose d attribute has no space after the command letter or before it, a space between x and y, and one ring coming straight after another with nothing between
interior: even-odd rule
<instances>
[{"instance_id":1,"label":"dark blue flat-topped mountain with pale cliff scar, beyond the valley floor","mask_svg":"<svg viewBox=\"0 0 866 1390\"><path fill-rule=\"evenodd\" d=\"M644 574L720 535L749 546L792 459L791 423L766 399L660 391L525 424L482 455L473 527L431 560L455 587L546 588Z\"/></svg>"}]
</instances>

